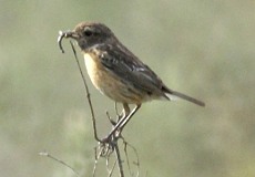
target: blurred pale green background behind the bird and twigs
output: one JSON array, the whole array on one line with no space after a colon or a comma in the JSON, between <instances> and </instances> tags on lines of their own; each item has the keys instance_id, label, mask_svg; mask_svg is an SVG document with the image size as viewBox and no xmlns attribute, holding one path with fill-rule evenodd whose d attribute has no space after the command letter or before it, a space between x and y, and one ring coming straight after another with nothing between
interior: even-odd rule
<instances>
[{"instance_id":1,"label":"blurred pale green background behind the bird and twigs","mask_svg":"<svg viewBox=\"0 0 255 177\"><path fill-rule=\"evenodd\" d=\"M254 9L251 0L1 0L1 176L74 176L42 150L91 176L96 143L89 105L69 41L62 54L57 37L99 21L166 85L206 103L142 106L123 133L139 152L141 176L254 177ZM113 102L88 83L103 136ZM106 176L100 164L98 176Z\"/></svg>"}]
</instances>

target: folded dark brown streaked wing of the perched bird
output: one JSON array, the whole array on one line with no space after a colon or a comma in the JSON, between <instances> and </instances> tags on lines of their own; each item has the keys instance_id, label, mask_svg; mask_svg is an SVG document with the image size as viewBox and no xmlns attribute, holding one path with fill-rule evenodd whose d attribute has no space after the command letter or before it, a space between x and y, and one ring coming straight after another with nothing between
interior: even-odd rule
<instances>
[{"instance_id":1,"label":"folded dark brown streaked wing of the perched bird","mask_svg":"<svg viewBox=\"0 0 255 177\"><path fill-rule=\"evenodd\" d=\"M149 94L165 96L162 91L163 83L157 75L123 45L114 48L102 45L99 51L102 64L126 85L132 85Z\"/></svg>"}]
</instances>

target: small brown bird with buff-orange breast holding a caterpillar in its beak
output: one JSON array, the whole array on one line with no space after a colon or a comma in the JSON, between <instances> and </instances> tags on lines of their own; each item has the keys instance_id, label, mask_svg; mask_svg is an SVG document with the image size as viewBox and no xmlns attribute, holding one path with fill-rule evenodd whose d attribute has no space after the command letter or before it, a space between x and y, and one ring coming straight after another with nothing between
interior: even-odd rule
<instances>
[{"instance_id":1,"label":"small brown bird with buff-orange breast holding a caterpillar in its beak","mask_svg":"<svg viewBox=\"0 0 255 177\"><path fill-rule=\"evenodd\" d=\"M81 22L73 31L62 32L59 39L74 39L84 55L86 71L93 85L104 95L122 103L125 122L122 128L141 104L152 100L186 100L200 106L205 104L183 93L170 90L162 80L130 50L128 50L102 23ZM136 107L130 112L129 104Z\"/></svg>"}]
</instances>

